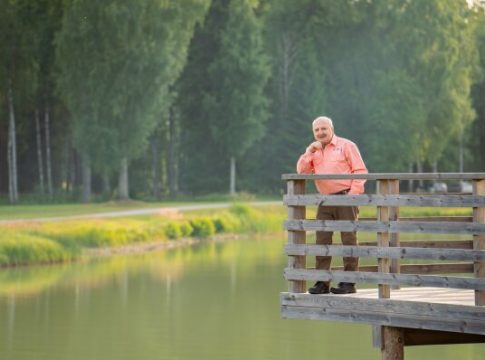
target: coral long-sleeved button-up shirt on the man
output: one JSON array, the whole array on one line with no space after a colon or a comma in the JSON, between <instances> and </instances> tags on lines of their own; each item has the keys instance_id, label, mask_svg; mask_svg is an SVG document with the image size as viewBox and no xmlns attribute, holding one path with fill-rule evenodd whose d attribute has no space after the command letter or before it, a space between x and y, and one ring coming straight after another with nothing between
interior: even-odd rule
<instances>
[{"instance_id":1,"label":"coral long-sleeved button-up shirt on the man","mask_svg":"<svg viewBox=\"0 0 485 360\"><path fill-rule=\"evenodd\" d=\"M323 150L303 154L296 164L298 174L367 174L359 149L352 141L336 136ZM349 194L362 194L365 180L315 180L321 194L335 194L349 190Z\"/></svg>"}]
</instances>

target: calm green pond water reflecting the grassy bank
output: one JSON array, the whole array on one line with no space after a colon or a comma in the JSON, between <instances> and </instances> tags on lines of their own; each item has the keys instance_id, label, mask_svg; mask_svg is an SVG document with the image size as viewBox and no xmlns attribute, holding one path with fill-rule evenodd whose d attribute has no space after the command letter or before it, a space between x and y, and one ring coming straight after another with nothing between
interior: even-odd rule
<instances>
[{"instance_id":1,"label":"calm green pond water reflecting the grassy bank","mask_svg":"<svg viewBox=\"0 0 485 360\"><path fill-rule=\"evenodd\" d=\"M0 271L0 360L380 359L368 325L281 320L285 235ZM478 360L485 345L406 348Z\"/></svg>"}]
</instances>

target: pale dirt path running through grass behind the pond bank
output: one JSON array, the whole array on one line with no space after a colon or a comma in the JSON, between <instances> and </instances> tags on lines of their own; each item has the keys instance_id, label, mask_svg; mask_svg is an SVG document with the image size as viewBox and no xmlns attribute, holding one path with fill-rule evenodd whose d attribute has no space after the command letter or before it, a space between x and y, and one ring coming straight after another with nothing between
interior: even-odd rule
<instances>
[{"instance_id":1,"label":"pale dirt path running through grass behind the pond bank","mask_svg":"<svg viewBox=\"0 0 485 360\"><path fill-rule=\"evenodd\" d=\"M193 204L193 205L177 205L166 206L159 208L143 208L133 210L119 210L110 211L95 214L83 214L83 215L69 215L69 216L56 216L46 218L34 218L34 219L12 219L12 220L0 220L0 224L15 224L21 222L48 222L48 221L66 221L66 220L80 220L80 219L103 219L103 218L116 218L138 215L156 215L156 214L169 214L174 211L192 211L192 210L206 210L206 209L224 209L232 206L232 203L212 203L212 204ZM249 203L250 206L264 206L264 205L282 205L281 201L257 201Z\"/></svg>"}]
</instances>

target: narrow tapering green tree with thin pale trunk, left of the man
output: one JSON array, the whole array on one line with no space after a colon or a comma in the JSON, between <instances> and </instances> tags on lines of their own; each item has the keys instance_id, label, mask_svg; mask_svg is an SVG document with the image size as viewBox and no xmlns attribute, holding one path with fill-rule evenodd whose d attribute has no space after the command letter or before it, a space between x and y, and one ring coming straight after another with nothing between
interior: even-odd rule
<instances>
[{"instance_id":1,"label":"narrow tapering green tree with thin pale trunk, left of the man","mask_svg":"<svg viewBox=\"0 0 485 360\"><path fill-rule=\"evenodd\" d=\"M264 89L270 69L261 31L249 1L230 1L219 51L208 69L211 91L203 111L214 142L230 160L230 194L236 191L236 160L262 137L268 116Z\"/></svg>"}]
</instances>

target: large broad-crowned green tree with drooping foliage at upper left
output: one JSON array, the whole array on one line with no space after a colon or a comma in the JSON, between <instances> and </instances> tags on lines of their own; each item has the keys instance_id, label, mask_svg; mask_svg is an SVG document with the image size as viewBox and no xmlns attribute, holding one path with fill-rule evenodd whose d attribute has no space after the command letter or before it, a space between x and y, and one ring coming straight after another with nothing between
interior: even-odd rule
<instances>
[{"instance_id":1,"label":"large broad-crowned green tree with drooping foliage at upper left","mask_svg":"<svg viewBox=\"0 0 485 360\"><path fill-rule=\"evenodd\" d=\"M129 196L129 162L144 153L170 105L164 100L206 3L73 0L66 9L59 89L75 146L97 171L119 169L122 199Z\"/></svg>"}]
</instances>

